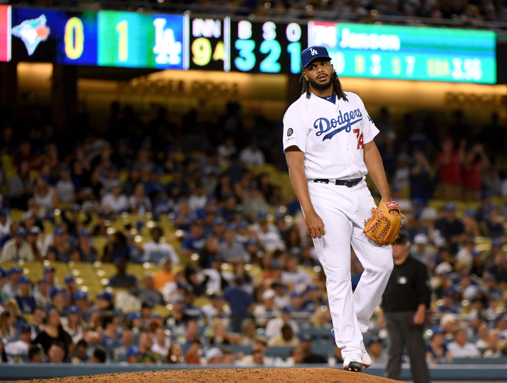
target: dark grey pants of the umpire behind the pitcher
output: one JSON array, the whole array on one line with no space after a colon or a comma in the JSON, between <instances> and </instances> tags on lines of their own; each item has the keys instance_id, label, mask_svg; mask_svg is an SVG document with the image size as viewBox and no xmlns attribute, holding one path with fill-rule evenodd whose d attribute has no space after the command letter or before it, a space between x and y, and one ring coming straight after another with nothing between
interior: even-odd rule
<instances>
[{"instance_id":1,"label":"dark grey pants of the umpire behind the pitcher","mask_svg":"<svg viewBox=\"0 0 507 383\"><path fill-rule=\"evenodd\" d=\"M389 347L384 376L394 380L400 378L403 347L407 346L414 383L429 383L426 344L422 338L424 327L414 324L414 314L414 311L385 313Z\"/></svg>"}]
</instances>

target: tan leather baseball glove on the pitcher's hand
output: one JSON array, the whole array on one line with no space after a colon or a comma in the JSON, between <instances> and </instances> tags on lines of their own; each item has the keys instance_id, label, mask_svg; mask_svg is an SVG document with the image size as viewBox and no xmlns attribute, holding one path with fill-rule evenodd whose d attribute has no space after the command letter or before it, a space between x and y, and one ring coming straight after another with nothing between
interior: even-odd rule
<instances>
[{"instance_id":1,"label":"tan leather baseball glove on the pitcher's hand","mask_svg":"<svg viewBox=\"0 0 507 383\"><path fill-rule=\"evenodd\" d=\"M389 213L390 210L395 210ZM405 223L405 215L394 201L381 202L378 208L372 208L372 216L365 221L363 233L379 245L390 245L398 236L400 227Z\"/></svg>"}]
</instances>

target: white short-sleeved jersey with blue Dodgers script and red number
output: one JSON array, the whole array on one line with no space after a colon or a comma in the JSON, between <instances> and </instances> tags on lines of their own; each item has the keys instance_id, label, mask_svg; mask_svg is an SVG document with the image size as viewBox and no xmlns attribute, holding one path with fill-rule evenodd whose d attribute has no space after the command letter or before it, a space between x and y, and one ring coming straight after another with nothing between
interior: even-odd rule
<instances>
[{"instance_id":1,"label":"white short-sleeved jersey with blue Dodgers script and red number","mask_svg":"<svg viewBox=\"0 0 507 383\"><path fill-rule=\"evenodd\" d=\"M305 153L307 179L352 179L368 173L364 144L379 130L358 95L332 103L312 93L294 102L283 117L283 149L296 145Z\"/></svg>"}]
</instances>

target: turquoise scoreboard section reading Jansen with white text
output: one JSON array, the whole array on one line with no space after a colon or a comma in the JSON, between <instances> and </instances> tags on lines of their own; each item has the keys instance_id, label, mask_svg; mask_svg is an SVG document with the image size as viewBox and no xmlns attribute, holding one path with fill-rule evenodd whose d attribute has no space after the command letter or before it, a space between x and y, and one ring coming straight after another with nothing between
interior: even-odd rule
<instances>
[{"instance_id":1,"label":"turquoise scoreboard section reading Jansen with white text","mask_svg":"<svg viewBox=\"0 0 507 383\"><path fill-rule=\"evenodd\" d=\"M496 82L492 31L311 21L309 43L327 47L342 76Z\"/></svg>"}]
</instances>

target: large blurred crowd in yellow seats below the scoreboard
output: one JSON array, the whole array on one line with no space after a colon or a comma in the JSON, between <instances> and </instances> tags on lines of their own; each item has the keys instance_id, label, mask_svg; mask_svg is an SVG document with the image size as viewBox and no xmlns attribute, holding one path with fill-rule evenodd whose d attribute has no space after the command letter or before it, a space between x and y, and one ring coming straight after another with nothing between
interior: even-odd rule
<instances>
[{"instance_id":1,"label":"large blurred crowd in yellow seats below the scoreboard","mask_svg":"<svg viewBox=\"0 0 507 383\"><path fill-rule=\"evenodd\" d=\"M299 205L266 165L279 162L279 126L262 122L274 136L263 140L235 104L203 124L163 108L143 122L114 103L103 131L84 116L58 129L45 109L0 116L0 361L341 363ZM411 255L431 277L431 363L507 353L506 128L494 115L488 141L454 119L440 141L423 120L404 136L387 109L376 119ZM205 139L188 140L187 126ZM363 269L350 256L356 286ZM25 275L34 263L37 280ZM92 293L72 273L57 278L62 264L115 269ZM151 271L130 274L133 264ZM365 338L375 363L385 338L376 315Z\"/></svg>"}]
</instances>

